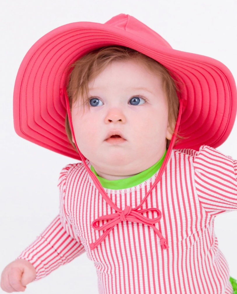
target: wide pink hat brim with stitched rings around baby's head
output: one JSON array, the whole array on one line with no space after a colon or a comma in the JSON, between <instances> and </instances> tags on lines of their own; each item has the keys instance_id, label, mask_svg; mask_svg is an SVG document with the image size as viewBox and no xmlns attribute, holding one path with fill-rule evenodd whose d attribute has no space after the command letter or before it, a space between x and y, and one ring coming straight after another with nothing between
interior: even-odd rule
<instances>
[{"instance_id":1,"label":"wide pink hat brim with stitched rings around baby's head","mask_svg":"<svg viewBox=\"0 0 237 294\"><path fill-rule=\"evenodd\" d=\"M16 133L28 141L81 160L65 131L66 104L60 96L65 69L86 53L109 45L135 49L160 62L177 76L186 101L179 132L189 137L176 149L206 144L220 146L229 136L236 117L236 83L230 70L208 56L179 51L128 31L94 22L74 22L41 37L19 67L13 97Z\"/></svg>"}]
</instances>

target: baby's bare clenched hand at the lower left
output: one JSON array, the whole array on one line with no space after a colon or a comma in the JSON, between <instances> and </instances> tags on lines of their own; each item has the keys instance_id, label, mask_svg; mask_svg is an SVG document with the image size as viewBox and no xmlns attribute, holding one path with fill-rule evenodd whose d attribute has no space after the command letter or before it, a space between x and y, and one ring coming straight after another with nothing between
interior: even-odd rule
<instances>
[{"instance_id":1,"label":"baby's bare clenched hand at the lower left","mask_svg":"<svg viewBox=\"0 0 237 294\"><path fill-rule=\"evenodd\" d=\"M9 263L1 274L2 290L11 292L25 291L26 285L36 277L36 269L24 259L17 259Z\"/></svg>"}]
</instances>

